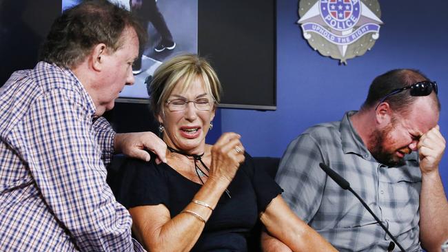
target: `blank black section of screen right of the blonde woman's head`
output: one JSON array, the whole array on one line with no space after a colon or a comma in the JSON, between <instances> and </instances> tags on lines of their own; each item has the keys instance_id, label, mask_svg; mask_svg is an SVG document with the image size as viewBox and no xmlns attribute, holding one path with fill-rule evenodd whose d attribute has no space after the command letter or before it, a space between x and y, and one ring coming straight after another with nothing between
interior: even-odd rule
<instances>
[{"instance_id":1,"label":"blank black section of screen right of the blonde woman's head","mask_svg":"<svg viewBox=\"0 0 448 252\"><path fill-rule=\"evenodd\" d=\"M276 109L275 3L199 1L198 52L223 84L221 107Z\"/></svg>"}]
</instances>

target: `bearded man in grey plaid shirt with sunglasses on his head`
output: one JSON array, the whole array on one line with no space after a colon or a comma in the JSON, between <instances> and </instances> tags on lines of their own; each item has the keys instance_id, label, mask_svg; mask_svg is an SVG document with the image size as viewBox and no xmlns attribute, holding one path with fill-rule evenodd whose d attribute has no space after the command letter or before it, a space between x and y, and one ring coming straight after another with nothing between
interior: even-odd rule
<instances>
[{"instance_id":1,"label":"bearded man in grey plaid shirt with sunglasses on his head","mask_svg":"<svg viewBox=\"0 0 448 252\"><path fill-rule=\"evenodd\" d=\"M440 251L448 202L438 171L445 139L437 93L421 72L391 70L374 79L360 111L307 129L289 144L276 176L289 206L340 251L391 249L391 238L322 162L348 180L405 251ZM280 245L263 233L267 251Z\"/></svg>"}]
</instances>

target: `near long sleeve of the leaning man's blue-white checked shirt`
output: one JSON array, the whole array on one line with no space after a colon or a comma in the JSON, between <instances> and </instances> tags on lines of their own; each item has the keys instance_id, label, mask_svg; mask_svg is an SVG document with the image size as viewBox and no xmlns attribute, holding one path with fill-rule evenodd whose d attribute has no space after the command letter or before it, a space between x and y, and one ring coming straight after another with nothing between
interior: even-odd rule
<instances>
[{"instance_id":1,"label":"near long sleeve of the leaning man's blue-white checked shirt","mask_svg":"<svg viewBox=\"0 0 448 252\"><path fill-rule=\"evenodd\" d=\"M92 118L72 91L37 98L14 129L18 153L56 221L81 251L133 251L132 220L105 182Z\"/></svg>"}]
</instances>

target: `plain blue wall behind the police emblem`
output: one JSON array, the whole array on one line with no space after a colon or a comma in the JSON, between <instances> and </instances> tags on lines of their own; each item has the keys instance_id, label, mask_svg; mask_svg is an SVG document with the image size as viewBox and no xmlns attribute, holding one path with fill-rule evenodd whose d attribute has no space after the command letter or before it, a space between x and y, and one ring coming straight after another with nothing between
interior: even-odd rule
<instances>
[{"instance_id":1,"label":"plain blue wall behind the police emblem","mask_svg":"<svg viewBox=\"0 0 448 252\"><path fill-rule=\"evenodd\" d=\"M252 156L281 156L307 127L358 109L375 76L416 68L439 84L440 128L448 139L448 1L379 1L380 38L348 65L320 56L303 39L298 0L277 1L277 110L221 109L222 131L238 132ZM256 90L254 90L256 92ZM448 188L448 151L440 165Z\"/></svg>"}]
</instances>

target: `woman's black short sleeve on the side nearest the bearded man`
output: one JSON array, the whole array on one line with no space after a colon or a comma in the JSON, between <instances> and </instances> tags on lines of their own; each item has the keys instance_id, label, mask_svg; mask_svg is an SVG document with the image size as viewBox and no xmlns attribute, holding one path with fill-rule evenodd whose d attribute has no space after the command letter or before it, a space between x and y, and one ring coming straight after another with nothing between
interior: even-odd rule
<instances>
[{"instance_id":1,"label":"woman's black short sleeve on the side nearest the bearded man","mask_svg":"<svg viewBox=\"0 0 448 252\"><path fill-rule=\"evenodd\" d=\"M266 171L254 166L254 160L249 154L245 154L245 156L245 172L252 180L258 212L262 212L278 194L283 192L283 189L269 177Z\"/></svg>"}]
</instances>

